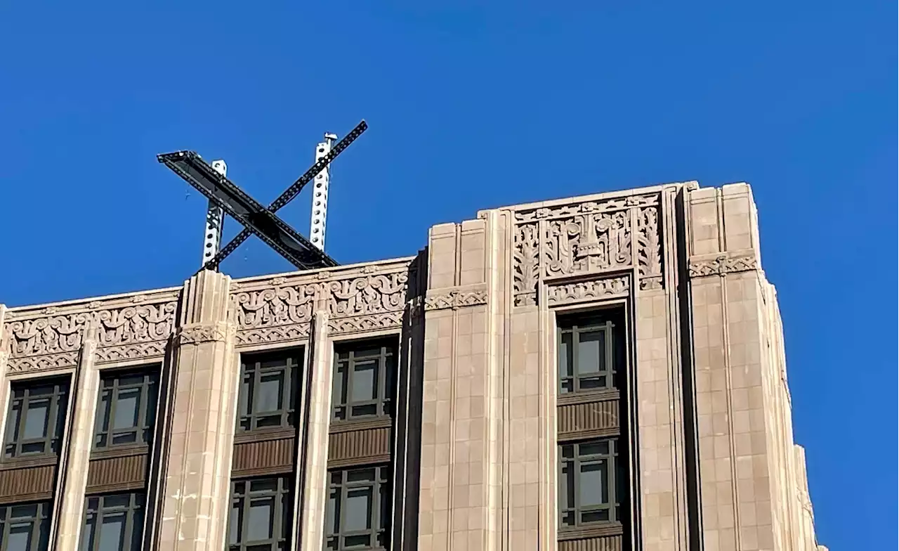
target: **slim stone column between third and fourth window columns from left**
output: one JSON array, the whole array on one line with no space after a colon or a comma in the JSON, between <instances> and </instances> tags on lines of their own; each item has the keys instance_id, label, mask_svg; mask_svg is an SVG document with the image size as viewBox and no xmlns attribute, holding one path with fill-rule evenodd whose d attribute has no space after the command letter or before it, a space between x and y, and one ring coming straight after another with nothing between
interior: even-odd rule
<instances>
[{"instance_id":1,"label":"slim stone column between third and fourth window columns from left","mask_svg":"<svg viewBox=\"0 0 899 551\"><path fill-rule=\"evenodd\" d=\"M334 344L328 336L328 314L318 311L309 331L308 418L304 441L303 491L300 502L298 549L319 549L324 541L328 495L328 429L331 424L331 385Z\"/></svg>"}]
</instances>

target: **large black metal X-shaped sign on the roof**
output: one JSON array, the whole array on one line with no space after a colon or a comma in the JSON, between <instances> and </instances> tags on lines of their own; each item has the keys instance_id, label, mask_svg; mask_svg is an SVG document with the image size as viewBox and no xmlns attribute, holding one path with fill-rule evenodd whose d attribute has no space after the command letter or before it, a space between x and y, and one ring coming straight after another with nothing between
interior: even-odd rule
<instances>
[{"instance_id":1,"label":"large black metal X-shaped sign on the roof","mask_svg":"<svg viewBox=\"0 0 899 551\"><path fill-rule=\"evenodd\" d=\"M308 239L291 228L287 222L275 216L274 212L296 197L304 185L312 181L328 166L328 163L340 155L343 149L347 149L368 127L369 125L365 121L360 122L343 140L338 141L325 157L318 159L316 164L310 167L303 176L300 176L284 193L280 194L268 208L246 194L226 176L219 174L193 151L175 151L157 155L156 159L160 163L172 169L175 174L181 176L201 194L206 195L209 201L218 205L245 228L200 269L217 268L225 257L240 247L240 244L252 234L262 239L265 244L275 249L282 257L287 258L291 264L301 270L337 266L334 258L325 255L324 251L316 248Z\"/></svg>"}]
</instances>

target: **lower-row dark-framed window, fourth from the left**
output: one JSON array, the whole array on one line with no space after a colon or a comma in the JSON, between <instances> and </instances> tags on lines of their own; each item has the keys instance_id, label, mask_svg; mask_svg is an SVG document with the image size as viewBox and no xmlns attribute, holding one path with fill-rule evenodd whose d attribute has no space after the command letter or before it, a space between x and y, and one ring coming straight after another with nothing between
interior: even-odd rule
<instances>
[{"instance_id":1,"label":"lower-row dark-framed window, fourth from the left","mask_svg":"<svg viewBox=\"0 0 899 551\"><path fill-rule=\"evenodd\" d=\"M389 466L328 473L325 549L387 549L390 531Z\"/></svg>"}]
</instances>

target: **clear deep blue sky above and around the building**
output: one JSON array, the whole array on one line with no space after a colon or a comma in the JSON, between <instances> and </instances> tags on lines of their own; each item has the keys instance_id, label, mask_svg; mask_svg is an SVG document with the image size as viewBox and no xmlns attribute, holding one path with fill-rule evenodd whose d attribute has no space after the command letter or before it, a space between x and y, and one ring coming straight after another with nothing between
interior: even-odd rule
<instances>
[{"instance_id":1,"label":"clear deep blue sky above and around the building","mask_svg":"<svg viewBox=\"0 0 899 551\"><path fill-rule=\"evenodd\" d=\"M156 153L225 158L267 202L362 118L343 263L480 208L748 181L821 541L895 548L899 4L56 4L0 8L0 302L181 285L205 201ZM308 202L282 211L303 232ZM289 270L257 240L223 267Z\"/></svg>"}]
</instances>

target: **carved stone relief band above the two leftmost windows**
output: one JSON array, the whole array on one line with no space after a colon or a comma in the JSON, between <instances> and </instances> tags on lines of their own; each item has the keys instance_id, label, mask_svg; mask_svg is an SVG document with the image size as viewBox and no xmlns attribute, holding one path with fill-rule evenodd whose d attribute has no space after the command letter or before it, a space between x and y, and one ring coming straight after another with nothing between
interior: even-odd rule
<instances>
[{"instance_id":1,"label":"carved stone relief band above the two leftmost windows","mask_svg":"<svg viewBox=\"0 0 899 551\"><path fill-rule=\"evenodd\" d=\"M179 289L6 313L12 372L77 365L88 327L97 334L97 362L162 357L174 329Z\"/></svg>"}]
</instances>

